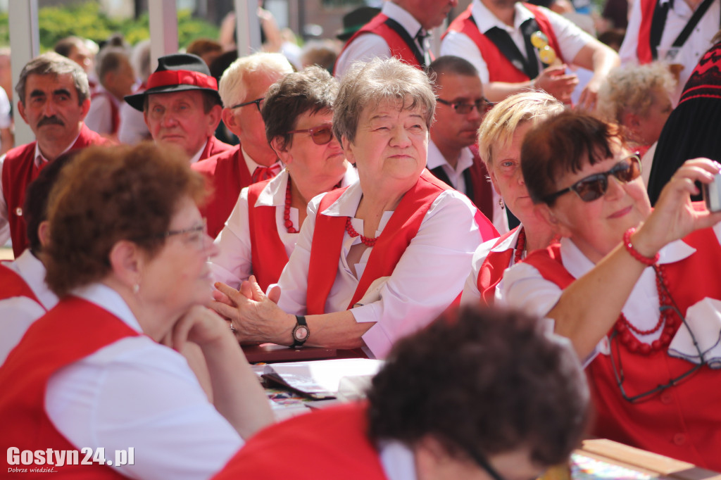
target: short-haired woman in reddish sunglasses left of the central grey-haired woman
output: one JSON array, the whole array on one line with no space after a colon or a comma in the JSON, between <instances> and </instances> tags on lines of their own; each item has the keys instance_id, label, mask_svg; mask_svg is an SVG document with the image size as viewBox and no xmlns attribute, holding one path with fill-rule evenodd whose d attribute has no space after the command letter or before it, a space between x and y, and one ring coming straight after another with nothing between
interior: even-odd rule
<instances>
[{"instance_id":1,"label":"short-haired woman in reddish sunglasses left of the central grey-haired woman","mask_svg":"<svg viewBox=\"0 0 721 480\"><path fill-rule=\"evenodd\" d=\"M337 89L337 81L314 66L288 74L268 90L262 107L265 133L285 168L241 191L216 239L216 280L239 288L255 275L264 291L277 283L311 198L358 179L332 133Z\"/></svg>"}]
</instances>

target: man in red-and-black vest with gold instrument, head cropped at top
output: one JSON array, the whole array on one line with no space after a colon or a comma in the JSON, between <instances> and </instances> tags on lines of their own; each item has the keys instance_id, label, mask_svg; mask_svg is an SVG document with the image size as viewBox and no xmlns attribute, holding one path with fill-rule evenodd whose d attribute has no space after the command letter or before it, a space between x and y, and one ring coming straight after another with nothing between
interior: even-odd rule
<instances>
[{"instance_id":1,"label":"man in red-and-black vest with gold instrument, head cropped at top","mask_svg":"<svg viewBox=\"0 0 721 480\"><path fill-rule=\"evenodd\" d=\"M535 32L546 37L545 43L554 50L555 59L536 53L531 43ZM579 104L589 110L596 103L603 79L619 65L614 50L569 20L518 0L473 0L448 27L441 55L461 55L473 63L480 72L486 96L493 102L532 88L569 103L578 77L566 74L565 63L586 68L593 71L593 76Z\"/></svg>"}]
</instances>

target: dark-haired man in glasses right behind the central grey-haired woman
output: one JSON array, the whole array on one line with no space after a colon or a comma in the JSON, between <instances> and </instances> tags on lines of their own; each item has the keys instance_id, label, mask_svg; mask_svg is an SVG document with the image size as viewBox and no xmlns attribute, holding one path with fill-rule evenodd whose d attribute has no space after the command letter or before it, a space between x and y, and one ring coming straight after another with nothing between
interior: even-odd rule
<instances>
[{"instance_id":1,"label":"dark-haired man in glasses right behind the central grey-haired woman","mask_svg":"<svg viewBox=\"0 0 721 480\"><path fill-rule=\"evenodd\" d=\"M430 128L428 169L438 179L468 196L498 231L508 224L497 224L494 205L497 193L488 181L486 168L475 148L476 135L486 111L492 107L483 96L478 71L463 58L446 55L428 66L438 103L435 122ZM434 79L435 76L435 79Z\"/></svg>"}]
</instances>

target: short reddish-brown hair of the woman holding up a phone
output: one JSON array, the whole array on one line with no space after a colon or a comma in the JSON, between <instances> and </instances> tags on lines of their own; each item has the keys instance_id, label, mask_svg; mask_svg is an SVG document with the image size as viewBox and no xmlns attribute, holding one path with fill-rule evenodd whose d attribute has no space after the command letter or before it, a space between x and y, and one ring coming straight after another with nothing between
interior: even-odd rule
<instances>
[{"instance_id":1,"label":"short reddish-brown hair of the woman holding up a phone","mask_svg":"<svg viewBox=\"0 0 721 480\"><path fill-rule=\"evenodd\" d=\"M618 125L570 110L528 130L521 147L521 170L531 200L544 203L559 190L556 180L563 174L613 156L614 143L624 144Z\"/></svg>"}]
</instances>

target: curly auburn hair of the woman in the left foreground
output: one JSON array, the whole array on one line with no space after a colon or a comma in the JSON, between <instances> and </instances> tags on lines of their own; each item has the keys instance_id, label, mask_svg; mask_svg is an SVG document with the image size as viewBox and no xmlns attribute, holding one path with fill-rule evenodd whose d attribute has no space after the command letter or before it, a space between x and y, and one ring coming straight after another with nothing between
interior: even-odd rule
<instances>
[{"instance_id":1,"label":"curly auburn hair of the woman in the left foreground","mask_svg":"<svg viewBox=\"0 0 721 480\"><path fill-rule=\"evenodd\" d=\"M58 296L102 280L120 240L131 240L150 256L164 244L183 197L202 203L203 177L190 169L177 147L92 146L60 174L50 192L50 245L43 261L46 281Z\"/></svg>"}]
</instances>

